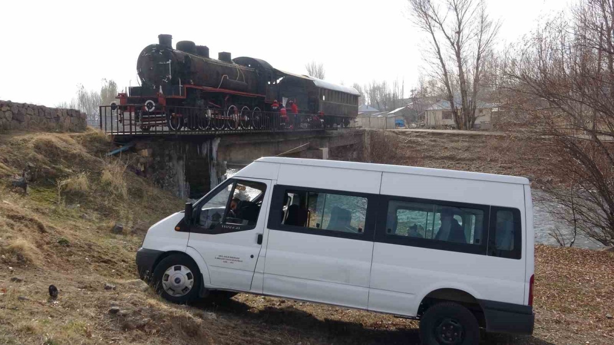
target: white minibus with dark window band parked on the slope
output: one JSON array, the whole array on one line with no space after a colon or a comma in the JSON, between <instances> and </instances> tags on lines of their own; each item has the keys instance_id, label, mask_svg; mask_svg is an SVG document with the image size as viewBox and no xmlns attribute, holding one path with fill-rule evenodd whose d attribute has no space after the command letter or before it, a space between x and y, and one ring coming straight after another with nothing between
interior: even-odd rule
<instances>
[{"instance_id":1,"label":"white minibus with dark window band parked on the slope","mask_svg":"<svg viewBox=\"0 0 614 345\"><path fill-rule=\"evenodd\" d=\"M474 344L533 331L532 210L524 177L266 157L149 228L136 263L177 303L255 293Z\"/></svg>"}]
</instances>

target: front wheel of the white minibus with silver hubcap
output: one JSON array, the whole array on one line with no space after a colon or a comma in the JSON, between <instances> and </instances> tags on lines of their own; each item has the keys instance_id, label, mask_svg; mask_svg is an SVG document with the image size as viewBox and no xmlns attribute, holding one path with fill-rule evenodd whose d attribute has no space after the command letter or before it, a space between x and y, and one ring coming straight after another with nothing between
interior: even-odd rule
<instances>
[{"instance_id":1,"label":"front wheel of the white minibus with silver hubcap","mask_svg":"<svg viewBox=\"0 0 614 345\"><path fill-rule=\"evenodd\" d=\"M153 286L167 301L187 303L198 298L201 274L198 266L182 254L169 255L153 270Z\"/></svg>"}]
</instances>

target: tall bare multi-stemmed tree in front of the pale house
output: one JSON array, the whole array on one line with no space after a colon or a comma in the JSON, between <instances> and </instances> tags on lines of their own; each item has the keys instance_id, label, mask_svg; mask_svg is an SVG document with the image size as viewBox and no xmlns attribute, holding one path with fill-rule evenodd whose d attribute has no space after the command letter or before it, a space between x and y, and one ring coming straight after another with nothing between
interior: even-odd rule
<instances>
[{"instance_id":1,"label":"tall bare multi-stemmed tree in front of the pale house","mask_svg":"<svg viewBox=\"0 0 614 345\"><path fill-rule=\"evenodd\" d=\"M476 118L484 59L492 53L500 25L488 17L483 0L408 1L414 23L429 35L435 74L445 87L456 128L469 130Z\"/></svg>"}]
</instances>

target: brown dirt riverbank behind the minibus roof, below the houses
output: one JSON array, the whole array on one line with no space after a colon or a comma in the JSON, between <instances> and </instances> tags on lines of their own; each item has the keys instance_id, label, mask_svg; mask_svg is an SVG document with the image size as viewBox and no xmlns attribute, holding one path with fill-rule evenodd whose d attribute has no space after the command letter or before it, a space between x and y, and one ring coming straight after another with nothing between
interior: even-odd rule
<instances>
[{"instance_id":1,"label":"brown dirt riverbank behind the minibus roof, below the houses","mask_svg":"<svg viewBox=\"0 0 614 345\"><path fill-rule=\"evenodd\" d=\"M453 134L447 131L369 131L370 149L362 161L523 176L532 187L551 181L546 169L556 157L547 142L524 136ZM488 133L487 133L488 134ZM346 149L333 150L343 159Z\"/></svg>"}]
</instances>

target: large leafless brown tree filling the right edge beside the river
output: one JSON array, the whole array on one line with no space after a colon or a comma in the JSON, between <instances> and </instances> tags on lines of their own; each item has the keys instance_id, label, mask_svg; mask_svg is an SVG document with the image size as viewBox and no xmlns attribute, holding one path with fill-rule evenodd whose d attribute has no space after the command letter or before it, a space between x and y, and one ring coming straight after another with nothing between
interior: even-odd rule
<instances>
[{"instance_id":1,"label":"large leafless brown tree filling the right edge beside the river","mask_svg":"<svg viewBox=\"0 0 614 345\"><path fill-rule=\"evenodd\" d=\"M519 44L502 87L550 145L544 168L557 215L614 245L614 1L585 0Z\"/></svg>"}]
</instances>

